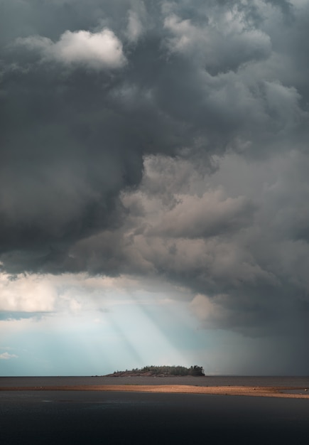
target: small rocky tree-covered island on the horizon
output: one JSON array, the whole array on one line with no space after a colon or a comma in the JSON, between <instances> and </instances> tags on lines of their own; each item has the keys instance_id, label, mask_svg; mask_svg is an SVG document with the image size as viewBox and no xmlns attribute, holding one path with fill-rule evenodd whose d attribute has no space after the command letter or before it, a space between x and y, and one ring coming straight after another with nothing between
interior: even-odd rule
<instances>
[{"instance_id":1,"label":"small rocky tree-covered island on the horizon","mask_svg":"<svg viewBox=\"0 0 309 445\"><path fill-rule=\"evenodd\" d=\"M114 371L112 374L104 375L104 377L177 377L193 375L194 377L205 377L202 366L144 366L143 368L135 368L125 371Z\"/></svg>"}]
</instances>

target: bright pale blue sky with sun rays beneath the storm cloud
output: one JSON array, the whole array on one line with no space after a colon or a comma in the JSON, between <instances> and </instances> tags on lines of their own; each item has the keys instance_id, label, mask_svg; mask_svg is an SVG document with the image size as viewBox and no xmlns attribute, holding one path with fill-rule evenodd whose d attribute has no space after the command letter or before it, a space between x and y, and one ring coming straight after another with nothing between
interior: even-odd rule
<instances>
[{"instance_id":1,"label":"bright pale blue sky with sun rays beneath the storm cloud","mask_svg":"<svg viewBox=\"0 0 309 445\"><path fill-rule=\"evenodd\" d=\"M2 284L4 278L9 279L2 276ZM23 279L16 277L11 286L19 289ZM23 294L24 301L36 301L36 291L51 277L36 279L37 289ZM70 274L53 280L53 310L2 312L0 376L105 375L151 364L195 363L210 375L254 374L260 367L278 373L272 360L259 365L258 351L267 348L260 339L202 328L186 289L162 283L154 290L150 280L85 274L75 286ZM268 348L271 356L273 345Z\"/></svg>"}]
</instances>

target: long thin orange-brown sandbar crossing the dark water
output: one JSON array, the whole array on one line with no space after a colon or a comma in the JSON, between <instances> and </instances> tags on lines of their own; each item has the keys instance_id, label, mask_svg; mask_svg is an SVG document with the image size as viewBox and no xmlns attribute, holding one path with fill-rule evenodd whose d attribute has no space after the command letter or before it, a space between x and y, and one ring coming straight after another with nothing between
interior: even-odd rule
<instances>
[{"instance_id":1,"label":"long thin orange-brown sandbar crossing the dark water","mask_svg":"<svg viewBox=\"0 0 309 445\"><path fill-rule=\"evenodd\" d=\"M131 391L179 394L242 395L309 399L309 395L287 391L305 391L303 387L193 386L193 385L61 385L0 387L0 391Z\"/></svg>"}]
</instances>

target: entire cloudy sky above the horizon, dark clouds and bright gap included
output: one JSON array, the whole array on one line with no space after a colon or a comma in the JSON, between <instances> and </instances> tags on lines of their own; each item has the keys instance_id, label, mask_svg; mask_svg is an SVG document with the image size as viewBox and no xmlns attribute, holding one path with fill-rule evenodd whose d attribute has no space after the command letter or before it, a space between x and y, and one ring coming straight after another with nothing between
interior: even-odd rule
<instances>
[{"instance_id":1,"label":"entire cloudy sky above the horizon, dark clouds and bright gap included","mask_svg":"<svg viewBox=\"0 0 309 445\"><path fill-rule=\"evenodd\" d=\"M0 1L0 375L308 375L309 1Z\"/></svg>"}]
</instances>

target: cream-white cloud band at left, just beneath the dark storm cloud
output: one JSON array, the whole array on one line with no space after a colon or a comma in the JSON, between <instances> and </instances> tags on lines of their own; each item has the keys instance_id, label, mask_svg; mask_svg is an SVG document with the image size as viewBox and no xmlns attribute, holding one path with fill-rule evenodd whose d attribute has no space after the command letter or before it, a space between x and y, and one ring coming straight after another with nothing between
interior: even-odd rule
<instances>
[{"instance_id":1,"label":"cream-white cloud band at left, just beneath the dark storm cloud","mask_svg":"<svg viewBox=\"0 0 309 445\"><path fill-rule=\"evenodd\" d=\"M136 304L137 299L148 304L152 302L150 295L156 295L156 304L161 306L168 304L166 295L173 299L188 294L186 289L176 289L165 282L156 284L156 291L153 291L154 286L151 279L125 275L18 274L12 279L9 274L0 274L0 311L7 312L9 323L15 321L14 312L49 313L48 317L43 317L46 321L57 313L81 316L99 311L102 314L119 304ZM28 318L31 319L39 322L38 318ZM5 321L1 323L4 326ZM9 348L0 346L0 350Z\"/></svg>"}]
</instances>

